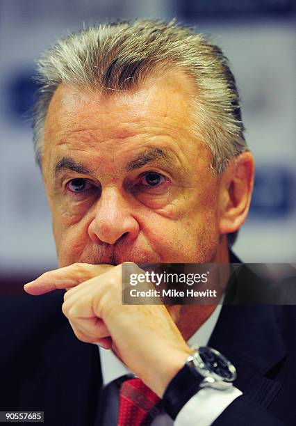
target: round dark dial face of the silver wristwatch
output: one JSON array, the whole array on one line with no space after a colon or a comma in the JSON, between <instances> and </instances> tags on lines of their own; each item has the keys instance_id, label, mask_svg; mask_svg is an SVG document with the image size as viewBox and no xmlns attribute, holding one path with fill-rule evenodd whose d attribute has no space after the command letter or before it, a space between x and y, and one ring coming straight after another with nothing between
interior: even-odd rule
<instances>
[{"instance_id":1,"label":"round dark dial face of the silver wristwatch","mask_svg":"<svg viewBox=\"0 0 296 426\"><path fill-rule=\"evenodd\" d=\"M198 352L206 370L224 381L236 379L236 368L220 352L206 346L199 347Z\"/></svg>"}]
</instances>

